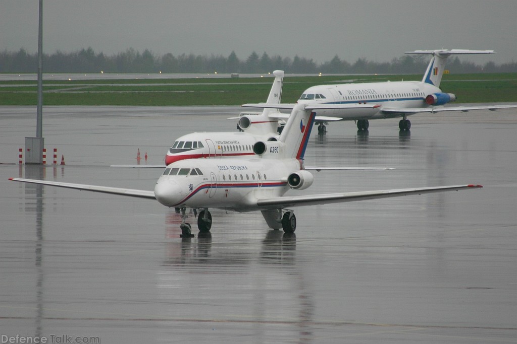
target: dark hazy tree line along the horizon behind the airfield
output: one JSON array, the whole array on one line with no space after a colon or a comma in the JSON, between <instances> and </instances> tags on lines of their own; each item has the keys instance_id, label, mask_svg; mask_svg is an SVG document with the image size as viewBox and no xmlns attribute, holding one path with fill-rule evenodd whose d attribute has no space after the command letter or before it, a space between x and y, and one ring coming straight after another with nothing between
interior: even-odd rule
<instances>
[{"instance_id":1,"label":"dark hazy tree line along the horizon behind the airfield","mask_svg":"<svg viewBox=\"0 0 517 344\"><path fill-rule=\"evenodd\" d=\"M114 55L95 53L93 48L64 53L43 54L45 73L267 73L284 70L287 73L325 73L325 74L421 74L429 63L429 56L404 55L390 62L374 62L359 58L355 62L340 59L337 55L330 61L317 63L313 59L259 56L252 52L241 60L235 52L229 56L194 55L171 53L157 55L149 50L143 53L133 48ZM517 62L484 65L461 61L458 57L449 58L447 68L454 73L510 73L517 72ZM23 48L18 52L0 52L0 73L36 73L38 54L29 54Z\"/></svg>"}]
</instances>

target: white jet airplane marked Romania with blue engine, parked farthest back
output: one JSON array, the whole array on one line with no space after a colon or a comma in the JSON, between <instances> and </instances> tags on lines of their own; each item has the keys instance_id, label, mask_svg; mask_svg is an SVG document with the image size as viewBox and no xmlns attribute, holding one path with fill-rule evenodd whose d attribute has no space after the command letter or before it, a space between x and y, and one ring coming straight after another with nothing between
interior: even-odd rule
<instances>
[{"instance_id":1,"label":"white jet airplane marked Romania with blue engine, parked farthest back","mask_svg":"<svg viewBox=\"0 0 517 344\"><path fill-rule=\"evenodd\" d=\"M400 130L407 131L411 122L407 119L415 113L440 111L496 110L512 108L517 105L457 106L443 105L456 100L452 93L443 93L439 89L445 70L445 62L450 55L493 54L492 50L417 50L405 54L432 55L427 71L421 81L393 81L386 83L363 83L320 85L303 92L298 104L328 104L329 109L318 111L320 115L341 117L343 120L356 121L360 131L366 131L369 120L400 118ZM334 105L340 104L342 108ZM374 107L356 108L357 104L371 104ZM249 105L258 107L258 104ZM284 104L281 108L292 108L293 104ZM316 120L318 122L318 120ZM325 126L320 122L318 133L325 133Z\"/></svg>"}]
</instances>

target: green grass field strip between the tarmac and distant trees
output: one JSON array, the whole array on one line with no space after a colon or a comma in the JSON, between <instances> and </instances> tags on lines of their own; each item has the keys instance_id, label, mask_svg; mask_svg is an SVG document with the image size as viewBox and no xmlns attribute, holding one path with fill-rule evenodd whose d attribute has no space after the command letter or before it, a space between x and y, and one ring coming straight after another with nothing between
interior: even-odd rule
<instances>
[{"instance_id":1,"label":"green grass field strip between the tarmac and distant trees","mask_svg":"<svg viewBox=\"0 0 517 344\"><path fill-rule=\"evenodd\" d=\"M282 102L321 84L420 80L421 75L286 76ZM264 102L273 77L43 80L44 105L241 105ZM517 102L517 73L445 74L442 91L459 103ZM2 81L0 105L36 105L36 81Z\"/></svg>"}]
</instances>

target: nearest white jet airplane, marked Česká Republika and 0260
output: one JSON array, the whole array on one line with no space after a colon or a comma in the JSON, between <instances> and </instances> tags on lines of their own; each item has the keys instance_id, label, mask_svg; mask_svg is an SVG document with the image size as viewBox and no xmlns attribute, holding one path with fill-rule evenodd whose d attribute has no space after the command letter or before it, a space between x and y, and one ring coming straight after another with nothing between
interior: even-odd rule
<instances>
[{"instance_id":1,"label":"nearest white jet airplane, marked \u010cesk\u00e1 Republika and 0260","mask_svg":"<svg viewBox=\"0 0 517 344\"><path fill-rule=\"evenodd\" d=\"M480 185L454 185L360 191L312 195L284 196L290 190L308 188L313 175L303 167L303 156L314 123L317 105L297 104L278 141L260 141L253 145L256 158L184 159L171 163L159 177L154 191L114 188L74 183L9 178L26 182L79 190L112 193L157 200L167 207L181 209L180 225L183 236L191 236L186 223L186 209L197 209L197 226L201 232L210 231L212 216L209 208L238 212L260 210L267 225L284 232L296 230L295 206L329 204L389 198L411 194L481 188Z\"/></svg>"}]
</instances>

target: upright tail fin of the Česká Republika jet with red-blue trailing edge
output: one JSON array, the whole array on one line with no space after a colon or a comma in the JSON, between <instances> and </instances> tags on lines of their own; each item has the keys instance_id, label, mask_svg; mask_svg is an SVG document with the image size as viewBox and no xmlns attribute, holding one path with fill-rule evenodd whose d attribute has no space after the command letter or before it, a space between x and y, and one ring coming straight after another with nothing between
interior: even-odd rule
<instances>
[{"instance_id":1,"label":"upright tail fin of the \u010cesk\u00e1 Republika jet with red-blue trailing edge","mask_svg":"<svg viewBox=\"0 0 517 344\"><path fill-rule=\"evenodd\" d=\"M284 143L286 157L303 159L316 113L306 110L307 104L296 104L287 120L280 141Z\"/></svg>"}]
</instances>

